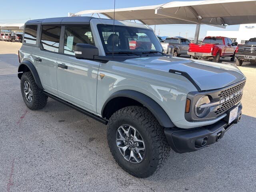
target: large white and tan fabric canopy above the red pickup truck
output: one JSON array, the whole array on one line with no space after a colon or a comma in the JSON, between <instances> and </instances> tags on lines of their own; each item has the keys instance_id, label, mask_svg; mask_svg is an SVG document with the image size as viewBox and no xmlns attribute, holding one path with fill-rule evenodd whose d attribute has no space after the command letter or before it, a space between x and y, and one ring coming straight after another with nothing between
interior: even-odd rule
<instances>
[{"instance_id":1,"label":"large white and tan fabric canopy above the red pickup truck","mask_svg":"<svg viewBox=\"0 0 256 192\"><path fill-rule=\"evenodd\" d=\"M120 8L115 10L116 20L140 20L147 25L208 24L226 25L256 23L256 0L176 1L154 6ZM114 18L114 9L84 10L75 13L104 14Z\"/></svg>"}]
</instances>

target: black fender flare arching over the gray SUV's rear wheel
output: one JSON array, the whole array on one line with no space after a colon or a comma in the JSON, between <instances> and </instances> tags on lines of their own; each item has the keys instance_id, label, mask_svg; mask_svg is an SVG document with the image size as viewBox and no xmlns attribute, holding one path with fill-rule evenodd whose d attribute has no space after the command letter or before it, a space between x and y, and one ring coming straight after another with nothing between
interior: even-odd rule
<instances>
[{"instance_id":1,"label":"black fender flare arching over the gray SUV's rear wheel","mask_svg":"<svg viewBox=\"0 0 256 192\"><path fill-rule=\"evenodd\" d=\"M36 82L36 85L38 86L38 88L40 89L44 89L41 83L41 80L39 78L38 72L36 70L36 67L30 62L30 61L23 61L20 63L19 67L18 67L18 78L20 79L22 76L22 73L24 72L24 65L26 67L28 67L28 69L30 70L30 72L32 73L34 80Z\"/></svg>"}]
</instances>

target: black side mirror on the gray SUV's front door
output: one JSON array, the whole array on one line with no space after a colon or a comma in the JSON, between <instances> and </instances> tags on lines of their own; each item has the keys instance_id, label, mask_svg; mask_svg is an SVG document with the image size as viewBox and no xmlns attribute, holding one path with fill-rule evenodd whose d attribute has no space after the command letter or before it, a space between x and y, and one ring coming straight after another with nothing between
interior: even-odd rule
<instances>
[{"instance_id":1,"label":"black side mirror on the gray SUV's front door","mask_svg":"<svg viewBox=\"0 0 256 192\"><path fill-rule=\"evenodd\" d=\"M99 50L96 46L84 43L77 43L75 46L75 56L77 59L94 59L94 56L99 55Z\"/></svg>"}]
</instances>

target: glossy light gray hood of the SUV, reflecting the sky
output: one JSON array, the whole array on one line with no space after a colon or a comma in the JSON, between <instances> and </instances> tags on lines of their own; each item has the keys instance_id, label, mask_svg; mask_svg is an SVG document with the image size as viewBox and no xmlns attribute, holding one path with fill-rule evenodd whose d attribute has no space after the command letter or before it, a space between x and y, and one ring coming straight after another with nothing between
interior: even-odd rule
<instances>
[{"instance_id":1,"label":"glossy light gray hood of the SUV, reflecting the sky","mask_svg":"<svg viewBox=\"0 0 256 192\"><path fill-rule=\"evenodd\" d=\"M223 88L245 78L244 74L233 64L221 64L171 56L132 58L125 60L124 63L166 72L169 72L170 69L186 72L201 90Z\"/></svg>"}]
</instances>

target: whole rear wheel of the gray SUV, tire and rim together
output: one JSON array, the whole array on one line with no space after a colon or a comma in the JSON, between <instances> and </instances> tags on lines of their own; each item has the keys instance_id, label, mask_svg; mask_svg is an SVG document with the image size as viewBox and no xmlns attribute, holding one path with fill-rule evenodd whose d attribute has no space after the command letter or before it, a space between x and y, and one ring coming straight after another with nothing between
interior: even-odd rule
<instances>
[{"instance_id":1,"label":"whole rear wheel of the gray SUV, tire and rim together","mask_svg":"<svg viewBox=\"0 0 256 192\"><path fill-rule=\"evenodd\" d=\"M25 72L20 79L20 89L26 106L31 110L44 108L48 97L38 88L31 72Z\"/></svg>"}]
</instances>

